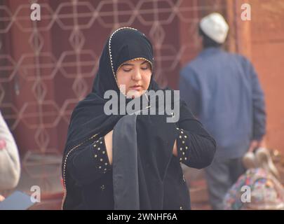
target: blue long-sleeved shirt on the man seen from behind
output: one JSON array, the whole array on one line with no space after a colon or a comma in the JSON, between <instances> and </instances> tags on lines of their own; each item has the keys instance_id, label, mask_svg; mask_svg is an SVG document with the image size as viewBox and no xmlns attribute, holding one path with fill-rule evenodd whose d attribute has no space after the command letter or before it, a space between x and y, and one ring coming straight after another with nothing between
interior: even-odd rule
<instances>
[{"instance_id":1,"label":"blue long-sleeved shirt on the man seen from behind","mask_svg":"<svg viewBox=\"0 0 284 224\"><path fill-rule=\"evenodd\" d=\"M182 69L180 97L215 137L218 158L240 158L265 134L264 93L241 55L205 48Z\"/></svg>"}]
</instances>

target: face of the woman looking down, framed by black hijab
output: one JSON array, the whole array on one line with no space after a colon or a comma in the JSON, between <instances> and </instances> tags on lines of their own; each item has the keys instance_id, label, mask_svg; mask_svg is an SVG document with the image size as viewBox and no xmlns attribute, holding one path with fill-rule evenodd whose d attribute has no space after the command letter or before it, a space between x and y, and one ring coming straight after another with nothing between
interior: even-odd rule
<instances>
[{"instance_id":1,"label":"face of the woman looking down, framed by black hijab","mask_svg":"<svg viewBox=\"0 0 284 224\"><path fill-rule=\"evenodd\" d=\"M116 72L116 79L123 94L130 98L140 97L149 87L151 65L143 59L124 62Z\"/></svg>"}]
</instances>

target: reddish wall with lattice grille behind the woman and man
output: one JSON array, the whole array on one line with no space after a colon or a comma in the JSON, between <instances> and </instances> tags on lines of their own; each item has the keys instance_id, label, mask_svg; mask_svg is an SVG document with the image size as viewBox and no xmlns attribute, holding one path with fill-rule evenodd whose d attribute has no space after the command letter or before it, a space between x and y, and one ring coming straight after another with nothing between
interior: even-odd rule
<instances>
[{"instance_id":1,"label":"reddish wall with lattice grille behind the woman and man","mask_svg":"<svg viewBox=\"0 0 284 224\"><path fill-rule=\"evenodd\" d=\"M30 19L32 3L41 6L40 21ZM250 21L241 20L243 3L251 6ZM91 90L111 32L144 32L154 45L156 80L177 89L180 69L201 50L198 22L212 12L229 23L226 50L245 55L257 70L266 97L266 145L282 169L283 0L0 0L0 109L20 153L16 189L41 187L42 202L34 209L60 209L69 118ZM210 209L203 172L185 174L193 209Z\"/></svg>"}]
</instances>

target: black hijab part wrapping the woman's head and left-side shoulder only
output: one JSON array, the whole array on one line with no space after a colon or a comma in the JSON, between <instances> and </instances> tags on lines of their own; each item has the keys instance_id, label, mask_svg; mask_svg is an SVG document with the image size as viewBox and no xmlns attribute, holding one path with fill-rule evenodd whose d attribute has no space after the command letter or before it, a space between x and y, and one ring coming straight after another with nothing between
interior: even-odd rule
<instances>
[{"instance_id":1,"label":"black hijab part wrapping the woman's head and left-side shoulder only","mask_svg":"<svg viewBox=\"0 0 284 224\"><path fill-rule=\"evenodd\" d=\"M93 89L88 96L76 106L72 113L67 133L65 155L77 144L98 134L103 136L113 129L123 115L107 116L104 113L104 92L120 92L116 83L116 71L123 62L143 58L151 64L151 81L148 90L158 90L154 81L153 48L147 37L137 29L123 27L114 31L105 43L100 57L99 70L95 76ZM142 95L144 97L144 95ZM132 99L126 99L128 104Z\"/></svg>"}]
</instances>

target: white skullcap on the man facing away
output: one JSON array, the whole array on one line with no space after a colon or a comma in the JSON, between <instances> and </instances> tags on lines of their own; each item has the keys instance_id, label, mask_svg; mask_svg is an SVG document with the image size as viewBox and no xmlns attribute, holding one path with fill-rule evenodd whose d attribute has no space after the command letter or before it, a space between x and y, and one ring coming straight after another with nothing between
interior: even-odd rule
<instances>
[{"instance_id":1,"label":"white skullcap on the man facing away","mask_svg":"<svg viewBox=\"0 0 284 224\"><path fill-rule=\"evenodd\" d=\"M211 13L201 19L200 27L204 34L217 43L224 43L229 26L219 13Z\"/></svg>"}]
</instances>

